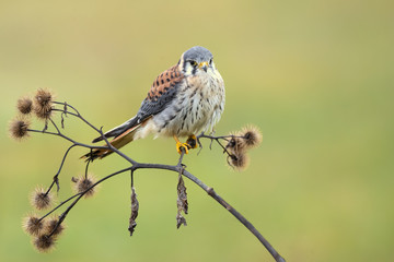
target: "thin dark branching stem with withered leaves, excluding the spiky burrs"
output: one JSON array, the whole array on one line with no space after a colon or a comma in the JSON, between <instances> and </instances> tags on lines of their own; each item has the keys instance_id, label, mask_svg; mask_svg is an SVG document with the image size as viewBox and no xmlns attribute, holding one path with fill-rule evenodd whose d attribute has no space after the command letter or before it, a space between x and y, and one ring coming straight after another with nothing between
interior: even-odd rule
<instances>
[{"instance_id":1,"label":"thin dark branching stem with withered leaves, excluding the spiky burrs","mask_svg":"<svg viewBox=\"0 0 394 262\"><path fill-rule=\"evenodd\" d=\"M280 254L273 248L273 246L263 237L263 235L241 214L239 213L234 207L232 207L228 202L225 202L219 194L216 193L216 191L213 190L213 188L206 186L201 180L199 180L196 176L192 175L189 171L186 170L186 166L183 164L183 158L185 155L185 150L182 147L182 153L179 155L178 162L176 165L164 165L164 164L151 164L151 163L139 163L134 160L132 158L130 158L129 156L125 155L124 153L121 153L119 150L117 150L115 146L113 146L111 144L111 142L105 138L102 128L96 128L95 126L93 126L92 123L90 123L85 118L82 117L82 115L71 105L65 103L60 103L60 102L51 102L54 105L58 105L58 106L62 106L61 109L59 108L51 108L53 111L58 111L61 114L61 128L63 128L63 116L72 116L76 117L78 119L80 119L84 124L86 124L89 128L93 129L94 131L96 131L105 141L105 146L94 146L94 145L90 145L90 144L85 144L85 143L81 143L78 142L73 139L71 139L70 136L63 134L60 129L58 128L58 126L56 124L56 122L53 120L51 117L49 117L48 119L46 119L45 122L45 128L42 131L38 130L34 130L34 129L27 129L28 132L35 132L35 133L42 133L42 134L49 134L49 135L55 135L61 139L65 139L69 142L71 142L71 145L67 148L62 160L60 163L59 169L57 170L56 175L54 176L53 182L49 186L47 193L49 193L49 191L53 189L54 184L57 184L57 190L59 191L60 187L59 187L59 174L62 170L63 164L66 162L66 158L69 154L69 152L71 151L71 148L76 147L76 146L81 146L81 147L85 147L89 150L94 150L94 148L104 148L104 150L108 150L114 152L116 155L120 156L121 158L124 158L125 160L127 160L130 166L126 167L121 170L112 172L111 175L105 176L104 178L97 180L96 182L92 182L91 186L89 186L88 188L84 188L83 191L80 191L73 195L71 195L70 198L68 198L67 200L62 201L60 204L58 204L57 206L55 206L51 211L49 211L47 214L45 214L43 217L39 218L39 221L44 219L45 217L47 217L48 215L53 214L55 211L57 211L58 209L60 209L61 206L63 206L65 204L69 203L69 205L66 207L66 210L62 212L62 214L59 216L59 219L57 221L56 226L54 227L54 229L51 230L51 233L49 233L49 235L47 235L46 237L49 239L57 230L57 228L61 225L61 223L66 219L67 215L69 214L69 212L77 205L77 203L82 199L82 196L84 195L89 195L89 192L95 188L97 184L104 182L105 180L124 174L126 171L131 171L131 215L129 218L129 228L128 230L130 231L130 235L132 235L135 227L136 227L136 218L138 215L138 207L139 207L139 203L137 200L137 194L136 194L136 190L134 187L134 172L138 169L165 169L165 170L170 170L170 171L174 171L178 175L178 183L177 183L177 207L178 207L178 212L177 212L177 227L179 227L182 224L186 225L186 219L182 216L182 212L184 212L185 214L187 214L188 211L188 203L187 203L187 194L186 194L186 187L183 180L183 177L186 177L187 179L189 179L190 181L193 181L194 183L196 183L198 187L200 187L204 191L206 191L212 199L215 199L220 205L222 205L225 210L228 210L239 222L241 222L262 243L263 246L269 251L269 253L275 258L276 261L280 261L283 262L285 259L282 257L280 257ZM71 110L69 110L71 109ZM55 128L56 132L54 131L48 131L48 122L51 123L53 128ZM211 144L210 144L210 148L213 142L217 142L220 147L223 150L223 153L228 154L228 156L230 157L235 157L234 152L231 147L229 147L229 143L232 140L236 140L236 138L239 139L245 139L244 136L240 136L240 135L222 135L222 136L213 136L213 135L206 135L204 133L199 134L197 136L197 142L200 145L200 147L202 148L202 145L200 143L200 139L208 139L210 140ZM227 145L223 145L222 142L228 143ZM230 148L230 150L228 150ZM88 178L88 169L90 166L90 160L86 163L85 166L85 171L84 171L84 178ZM73 200L73 201L72 201ZM72 202L71 202L72 201ZM71 203L70 203L71 202Z\"/></svg>"}]
</instances>

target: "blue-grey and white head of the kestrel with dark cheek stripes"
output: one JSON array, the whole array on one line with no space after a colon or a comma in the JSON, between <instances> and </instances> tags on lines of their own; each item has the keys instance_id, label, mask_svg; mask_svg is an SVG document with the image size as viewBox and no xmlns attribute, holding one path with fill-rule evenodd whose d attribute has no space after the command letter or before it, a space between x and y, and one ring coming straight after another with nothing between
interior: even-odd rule
<instances>
[{"instance_id":1,"label":"blue-grey and white head of the kestrel with dark cheek stripes","mask_svg":"<svg viewBox=\"0 0 394 262\"><path fill-rule=\"evenodd\" d=\"M181 57L179 67L186 76L201 73L209 74L216 70L212 53L200 46L192 47L185 51Z\"/></svg>"}]
</instances>

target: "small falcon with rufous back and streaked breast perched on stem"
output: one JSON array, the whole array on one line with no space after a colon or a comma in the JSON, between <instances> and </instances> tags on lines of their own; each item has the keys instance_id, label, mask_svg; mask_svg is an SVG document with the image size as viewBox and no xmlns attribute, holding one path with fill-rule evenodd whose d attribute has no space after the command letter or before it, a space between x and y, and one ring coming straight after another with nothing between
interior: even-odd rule
<instances>
[{"instance_id":1,"label":"small falcon with rufous back and streaked breast perched on stem","mask_svg":"<svg viewBox=\"0 0 394 262\"><path fill-rule=\"evenodd\" d=\"M197 147L196 134L213 130L224 109L224 82L217 70L212 53L195 46L182 53L179 61L153 82L137 115L104 133L114 138L111 144L120 148L148 134L173 136L176 150ZM186 143L179 136L188 136ZM93 143L102 141L99 136ZM84 157L103 158L112 151L97 148Z\"/></svg>"}]
</instances>

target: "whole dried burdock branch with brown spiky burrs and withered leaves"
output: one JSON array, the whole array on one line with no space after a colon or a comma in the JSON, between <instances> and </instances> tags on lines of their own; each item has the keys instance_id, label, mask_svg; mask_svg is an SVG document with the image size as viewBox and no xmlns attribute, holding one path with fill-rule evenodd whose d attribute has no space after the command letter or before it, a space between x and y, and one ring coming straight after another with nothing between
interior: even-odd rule
<instances>
[{"instance_id":1,"label":"whole dried burdock branch with brown spiky burrs and withered leaves","mask_svg":"<svg viewBox=\"0 0 394 262\"><path fill-rule=\"evenodd\" d=\"M24 98L26 99L26 98ZM26 231L34 237L33 243L39 251L48 251L58 239L58 236L60 231L62 230L62 223L67 218L70 211L78 204L78 202L83 196L89 196L93 194L94 189L101 184L102 182L106 181L107 179L115 177L120 174L130 172L131 174L131 216L129 219L129 228L130 235L135 231L135 228L137 226L136 218L138 215L138 206L139 203L137 201L137 194L136 189L134 184L134 176L136 175L136 171L138 169L165 169L170 171L174 171L178 175L178 186L177 186L177 192L178 192L178 199L177 199L177 206L178 206L178 214L177 214L177 227L181 225L186 225L186 219L182 215L182 213L187 214L187 194L186 194L186 187L183 181L182 177L186 177L194 183L196 183L198 187L200 187L204 191L206 191L212 199L215 199L219 204L221 204L225 210L228 210L239 222L241 222L263 245L264 247L269 251L269 253L274 257L276 261L283 262L285 259L280 257L280 254L274 249L274 247L263 237L263 235L234 207L232 207L227 201L224 201L217 192L213 190L213 188L208 187L201 180L199 180L196 176L190 174L186 170L186 166L183 164L183 158L185 155L185 151L182 147L182 154L179 155L179 158L177 160L176 165L163 165L163 164L151 164L151 163L139 163L129 156L121 153L119 150L114 147L109 141L104 136L102 129L96 128L91 122L89 122L82 115L71 105L67 103L61 102L53 102L51 95L49 93L46 93L45 91L38 91L37 95L35 97L35 108L28 108L28 105L32 106L33 103L30 103L28 100L24 100L24 104L22 105L22 109L20 109L21 114L27 115L31 111L34 111L36 116L40 119L45 120L45 127L43 130L36 130L31 128L31 123L27 120L23 120L21 118L18 118L14 120L14 122L11 123L10 132L11 135L15 139L22 139L30 133L42 133L42 134L49 134L55 135L58 138L61 138L63 140L67 140L71 143L71 145L67 148L65 152L63 157L61 158L61 163L59 165L58 170L56 171L55 176L53 177L53 181L49 184L48 189L37 190L34 199L32 201L33 205L38 209L46 209L49 207L51 204L51 190L54 186L57 186L57 191L60 190L60 180L59 176L63 168L63 164L67 160L67 157L69 155L69 152L77 147L85 147L90 151L95 148L105 148L113 151L115 154L124 158L129 163L129 167L126 167L121 170L117 170L111 175L107 175L103 177L102 179L94 180L89 175L89 167L91 162L86 162L85 171L82 177L79 178L72 178L72 181L76 182L76 189L77 193L69 196L68 199L60 202L58 205L53 207L49 212L47 212L45 215L37 217L37 216L30 216L26 219L25 229ZM24 107L23 107L24 106ZM60 108L59 108L60 107ZM20 108L20 102L19 102L19 108ZM61 128L57 126L55 122L53 115L59 112L61 117ZM77 119L80 119L82 123L86 124L89 128L93 129L103 138L105 141L105 145L96 146L91 145L88 143L81 143L74 139L71 139L67 134L62 132L62 129L65 128L65 117L74 117ZM50 124L50 126L49 126ZM54 131L50 131L53 130ZM210 148L213 142L217 142L221 148L223 150L223 153L228 156L228 162L231 166L233 166L236 169L242 169L246 166L246 150L250 147L253 147L257 145L260 142L259 132L256 130L248 128L243 130L242 132L236 132L230 135L221 135L221 136L215 136L215 135L208 135L208 134L199 134L197 136L197 142L202 148L200 140L208 139L210 140ZM222 143L224 142L224 143ZM47 218L49 215L51 215L55 211L59 210L60 207L65 206L66 210L54 219Z\"/></svg>"}]
</instances>

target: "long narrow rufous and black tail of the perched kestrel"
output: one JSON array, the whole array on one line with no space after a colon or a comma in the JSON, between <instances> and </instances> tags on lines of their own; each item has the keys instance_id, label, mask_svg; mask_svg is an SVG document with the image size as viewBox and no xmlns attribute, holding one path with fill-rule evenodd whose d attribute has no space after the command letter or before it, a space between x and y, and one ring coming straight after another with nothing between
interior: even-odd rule
<instances>
[{"instance_id":1,"label":"long narrow rufous and black tail of the perched kestrel","mask_svg":"<svg viewBox=\"0 0 394 262\"><path fill-rule=\"evenodd\" d=\"M109 130L108 132L104 133L104 136L106 139L114 138L109 143L116 147L120 148L121 146L130 143L134 140L134 136L137 132L137 130L141 127L142 122L137 121L137 117L131 118L130 120L124 122L123 124ZM104 140L103 136L99 136L92 141L92 143L96 143ZM81 156L81 158L84 158L88 160L94 160L96 158L103 158L105 156L108 156L113 153L111 150L104 150L104 148L97 148L92 150L88 154L84 154Z\"/></svg>"}]
</instances>

